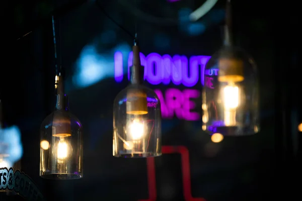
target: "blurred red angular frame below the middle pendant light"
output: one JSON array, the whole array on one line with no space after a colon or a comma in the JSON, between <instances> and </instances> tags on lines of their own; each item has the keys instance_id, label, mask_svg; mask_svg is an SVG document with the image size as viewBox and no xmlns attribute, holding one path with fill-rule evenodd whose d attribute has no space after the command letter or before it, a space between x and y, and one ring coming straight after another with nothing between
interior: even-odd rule
<instances>
[{"instance_id":1,"label":"blurred red angular frame below the middle pendant light","mask_svg":"<svg viewBox=\"0 0 302 201\"><path fill-rule=\"evenodd\" d=\"M183 194L186 201L205 201L204 198L194 198L191 194L191 173L189 150L185 146L162 146L163 154L179 153L181 155ZM138 201L156 201L156 177L155 161L153 157L147 158L147 176L148 176L148 199L139 199Z\"/></svg>"}]
</instances>

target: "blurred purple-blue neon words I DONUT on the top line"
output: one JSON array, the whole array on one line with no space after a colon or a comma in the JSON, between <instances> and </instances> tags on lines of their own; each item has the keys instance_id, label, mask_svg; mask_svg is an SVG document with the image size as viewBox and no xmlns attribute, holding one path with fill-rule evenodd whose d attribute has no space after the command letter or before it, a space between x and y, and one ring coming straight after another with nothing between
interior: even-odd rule
<instances>
[{"instance_id":1,"label":"blurred purple-blue neon words I DONUT on the top line","mask_svg":"<svg viewBox=\"0 0 302 201\"><path fill-rule=\"evenodd\" d=\"M133 53L128 55L128 79L130 79L129 67L132 65ZM188 59L182 55L163 55L150 53L147 56L140 53L141 65L144 68L144 79L150 84L160 83L175 85L183 84L191 87L197 84L200 76L200 82L204 85L204 67L210 56L191 56ZM114 77L117 82L123 80L123 54L115 52L114 54Z\"/></svg>"}]
</instances>

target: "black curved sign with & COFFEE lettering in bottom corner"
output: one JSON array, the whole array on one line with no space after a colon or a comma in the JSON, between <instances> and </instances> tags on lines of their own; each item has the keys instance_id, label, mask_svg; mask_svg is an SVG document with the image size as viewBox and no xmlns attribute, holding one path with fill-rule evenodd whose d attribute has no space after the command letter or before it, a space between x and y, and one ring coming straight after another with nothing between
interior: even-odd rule
<instances>
[{"instance_id":1,"label":"black curved sign with & COFFEE lettering in bottom corner","mask_svg":"<svg viewBox=\"0 0 302 201\"><path fill-rule=\"evenodd\" d=\"M42 193L33 180L20 170L14 171L13 168L0 168L0 190L14 190L27 200L42 201Z\"/></svg>"}]
</instances>

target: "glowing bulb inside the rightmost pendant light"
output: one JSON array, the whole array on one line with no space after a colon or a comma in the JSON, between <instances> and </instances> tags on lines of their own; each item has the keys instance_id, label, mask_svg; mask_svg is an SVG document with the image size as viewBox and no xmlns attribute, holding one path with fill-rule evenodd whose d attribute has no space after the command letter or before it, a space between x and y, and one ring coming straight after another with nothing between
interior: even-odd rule
<instances>
[{"instance_id":1,"label":"glowing bulb inside the rightmost pendant light","mask_svg":"<svg viewBox=\"0 0 302 201\"><path fill-rule=\"evenodd\" d=\"M224 124L236 125L236 109L239 106L239 87L234 82L228 82L223 87Z\"/></svg>"}]
</instances>

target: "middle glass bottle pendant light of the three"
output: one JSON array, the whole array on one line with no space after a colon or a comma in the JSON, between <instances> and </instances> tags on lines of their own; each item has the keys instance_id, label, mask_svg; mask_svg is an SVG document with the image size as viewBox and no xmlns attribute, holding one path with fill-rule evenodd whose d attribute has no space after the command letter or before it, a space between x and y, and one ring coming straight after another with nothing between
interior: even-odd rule
<instances>
[{"instance_id":1,"label":"middle glass bottle pendant light of the three","mask_svg":"<svg viewBox=\"0 0 302 201\"><path fill-rule=\"evenodd\" d=\"M113 105L113 155L115 157L153 157L161 153L161 103L156 93L142 85L136 37L132 47L130 84L120 91Z\"/></svg>"}]
</instances>

